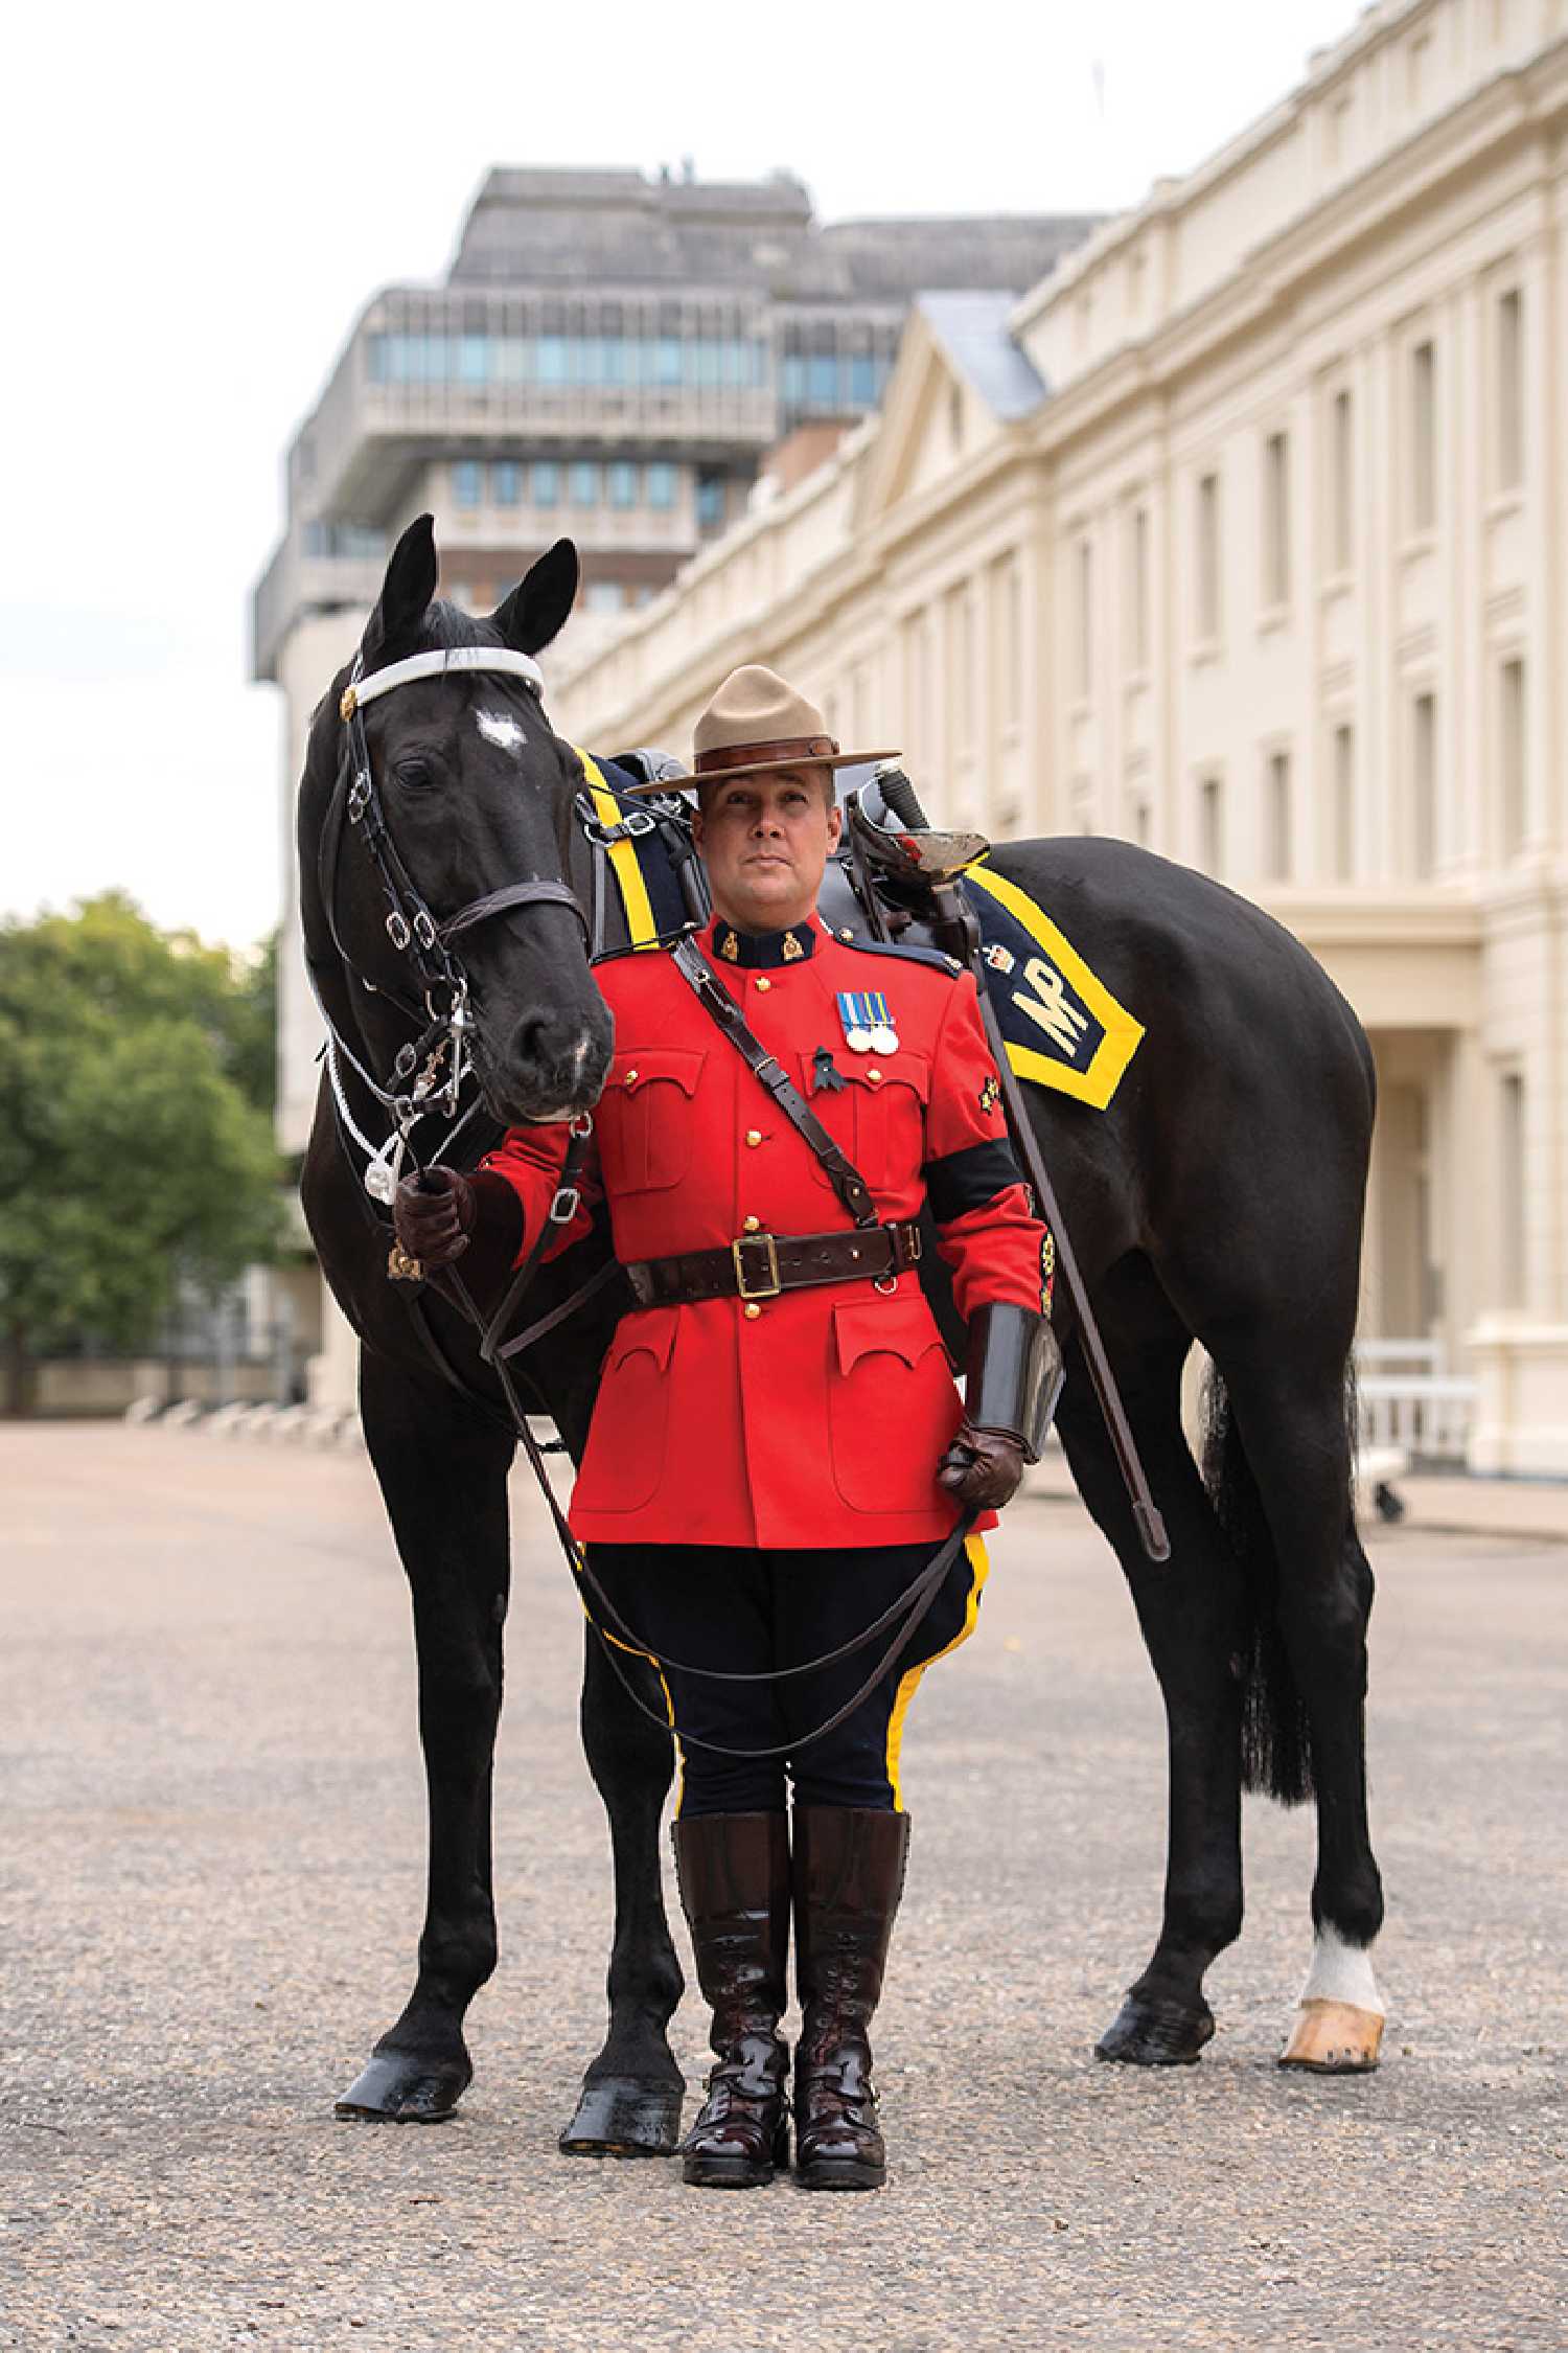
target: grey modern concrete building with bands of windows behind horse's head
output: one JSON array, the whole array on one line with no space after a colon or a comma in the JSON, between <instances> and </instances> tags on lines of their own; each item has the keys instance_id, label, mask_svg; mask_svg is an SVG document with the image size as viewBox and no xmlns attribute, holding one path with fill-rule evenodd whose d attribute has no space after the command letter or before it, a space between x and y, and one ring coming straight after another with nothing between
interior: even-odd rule
<instances>
[{"instance_id":1,"label":"grey modern concrete building with bands of windows behind horse's head","mask_svg":"<svg viewBox=\"0 0 1568 2353\"><path fill-rule=\"evenodd\" d=\"M442 593L489 609L569 532L581 659L748 506L769 452L837 440L882 398L922 285L1025 292L1088 216L823 228L788 174L710 184L496 169L442 285L374 294L287 461L254 598L256 678L287 696L284 873L303 739L402 525L430 511ZM299 1151L320 1024L289 901L280 1136Z\"/></svg>"}]
</instances>

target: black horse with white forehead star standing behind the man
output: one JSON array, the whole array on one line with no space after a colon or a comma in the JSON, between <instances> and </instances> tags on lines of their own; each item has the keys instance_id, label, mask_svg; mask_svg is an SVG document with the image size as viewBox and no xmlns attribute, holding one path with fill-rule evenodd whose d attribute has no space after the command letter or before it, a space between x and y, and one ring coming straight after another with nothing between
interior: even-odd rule
<instances>
[{"instance_id":1,"label":"black horse with white forehead star standing behind the man","mask_svg":"<svg viewBox=\"0 0 1568 2353\"><path fill-rule=\"evenodd\" d=\"M567 619L576 576L562 541L496 614L470 619L435 600L435 539L421 518L388 562L360 671L374 678L428 649L475 649L470 661L484 649L503 661L536 654ZM463 2014L496 1965L491 1758L515 1435L473 1327L433 1289L388 1280L388 1226L367 1198L364 1144L388 1136L376 1082L386 1087L411 1040L430 1052L447 1007L421 986L362 840L341 715L348 682L343 671L315 713L299 805L306 955L339 1040L303 1200L362 1341L364 1435L414 1595L430 1875L414 1993L339 2111L433 2120L470 2080ZM367 699L360 718L395 871L430 911L463 911L484 1111L508 1125L590 1108L611 1035L576 913L527 892L524 904L487 908L517 878L567 880L588 899L576 753L517 675L421 675ZM1013 842L992 864L1051 908L1147 1021L1105 1113L1027 1089L1173 1546L1166 1565L1145 1560L1072 1320L1058 1308L1070 1367L1063 1445L1128 1574L1171 1732L1164 1922L1098 2049L1171 2064L1197 2059L1213 2033L1204 1972L1241 1927L1241 1788L1253 1786L1286 1802L1316 1791L1316 1946L1295 2057L1368 2066L1371 2026L1359 2042L1340 2031L1345 2019L1375 2024L1368 1946L1382 1918L1363 1777L1373 1579L1352 1518L1347 1419L1373 1125L1366 1038L1279 925L1180 866L1110 840ZM407 1068L404 1054L404 1094ZM433 1113L421 1127L421 1155L440 1125ZM496 1125L477 1136L470 1120L444 1155L473 1162ZM529 1313L562 1304L595 1254L607 1254L604 1240L548 1264ZM574 1459L623 1304L604 1285L517 1360ZM1194 1339L1220 1377L1204 1473L1180 1419ZM609 1812L616 1932L609 2035L562 2146L663 2153L684 2089L665 2033L682 1974L658 1868L672 1746L630 1706L597 1635L585 1640L583 1746ZM628 1659L618 1666L642 1673ZM658 1706L656 1685L646 1699ZM1338 2040L1319 2033L1302 2045L1302 2021L1316 2012L1335 2021Z\"/></svg>"}]
</instances>

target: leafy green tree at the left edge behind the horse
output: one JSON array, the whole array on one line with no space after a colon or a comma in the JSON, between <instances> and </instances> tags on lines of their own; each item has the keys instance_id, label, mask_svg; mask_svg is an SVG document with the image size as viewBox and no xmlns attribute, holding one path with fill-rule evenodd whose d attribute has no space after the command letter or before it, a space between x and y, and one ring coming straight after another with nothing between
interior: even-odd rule
<instances>
[{"instance_id":1,"label":"leafy green tree at the left edge behind the horse","mask_svg":"<svg viewBox=\"0 0 1568 2353\"><path fill-rule=\"evenodd\" d=\"M118 892L0 925L0 1344L143 1346L282 1231L270 967L160 932Z\"/></svg>"}]
</instances>

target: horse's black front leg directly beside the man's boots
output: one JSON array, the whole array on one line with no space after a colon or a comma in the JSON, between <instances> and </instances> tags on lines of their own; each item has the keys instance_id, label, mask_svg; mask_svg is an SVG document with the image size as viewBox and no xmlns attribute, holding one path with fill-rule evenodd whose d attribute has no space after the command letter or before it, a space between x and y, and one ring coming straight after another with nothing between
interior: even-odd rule
<instances>
[{"instance_id":1,"label":"horse's black front leg directly beside the man's boots","mask_svg":"<svg viewBox=\"0 0 1568 2353\"><path fill-rule=\"evenodd\" d=\"M646 1685L649 1706L663 1704L642 1659L628 1654L623 1671ZM658 1821L675 1744L632 1708L592 1628L583 1661L583 1748L609 1814L616 1941L609 1958L609 2035L583 2078L562 2148L571 2158L668 2158L679 2141L686 2089L665 2033L682 1998L682 1972L658 1871Z\"/></svg>"}]
</instances>

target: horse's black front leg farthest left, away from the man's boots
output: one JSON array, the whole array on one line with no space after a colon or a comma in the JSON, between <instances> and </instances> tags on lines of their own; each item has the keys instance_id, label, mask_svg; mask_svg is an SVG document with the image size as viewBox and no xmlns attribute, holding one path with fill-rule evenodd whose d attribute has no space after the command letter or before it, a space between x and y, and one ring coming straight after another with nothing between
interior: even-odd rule
<instances>
[{"instance_id":1,"label":"horse's black front leg farthest left, away from the man's boots","mask_svg":"<svg viewBox=\"0 0 1568 2353\"><path fill-rule=\"evenodd\" d=\"M463 2014L496 1967L491 1767L512 1440L437 1379L364 1351L360 1409L414 1595L430 1873L414 1993L339 2115L430 2125L473 2078Z\"/></svg>"}]
</instances>

